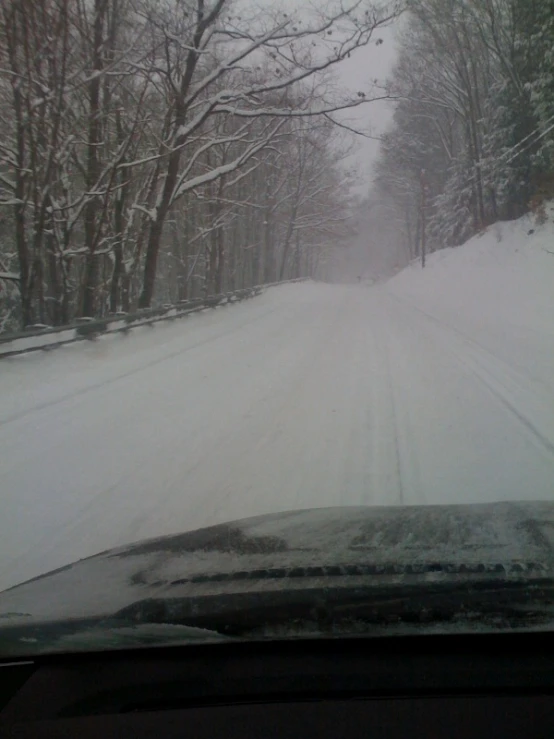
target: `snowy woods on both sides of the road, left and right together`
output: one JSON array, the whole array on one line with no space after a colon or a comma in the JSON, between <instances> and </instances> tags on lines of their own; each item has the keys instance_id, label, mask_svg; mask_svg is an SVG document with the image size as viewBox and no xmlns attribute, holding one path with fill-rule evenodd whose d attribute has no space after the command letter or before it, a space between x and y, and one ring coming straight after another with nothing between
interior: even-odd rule
<instances>
[{"instance_id":1,"label":"snowy woods on both sides of the road, left and right together","mask_svg":"<svg viewBox=\"0 0 554 739\"><path fill-rule=\"evenodd\" d=\"M401 263L544 218L554 0L293 6L0 0L0 331L325 278L359 215L338 114L374 99L362 209ZM343 89L391 23L388 81Z\"/></svg>"}]
</instances>

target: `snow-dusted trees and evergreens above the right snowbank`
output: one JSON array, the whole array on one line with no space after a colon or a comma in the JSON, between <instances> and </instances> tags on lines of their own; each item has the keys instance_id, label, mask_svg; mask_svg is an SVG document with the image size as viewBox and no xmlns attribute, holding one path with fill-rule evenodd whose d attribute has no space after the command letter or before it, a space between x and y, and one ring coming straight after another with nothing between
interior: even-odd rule
<instances>
[{"instance_id":1,"label":"snow-dusted trees and evergreens above the right snowbank","mask_svg":"<svg viewBox=\"0 0 554 739\"><path fill-rule=\"evenodd\" d=\"M404 262L554 196L554 2L408 0L369 203ZM423 252L423 254L422 254Z\"/></svg>"}]
</instances>

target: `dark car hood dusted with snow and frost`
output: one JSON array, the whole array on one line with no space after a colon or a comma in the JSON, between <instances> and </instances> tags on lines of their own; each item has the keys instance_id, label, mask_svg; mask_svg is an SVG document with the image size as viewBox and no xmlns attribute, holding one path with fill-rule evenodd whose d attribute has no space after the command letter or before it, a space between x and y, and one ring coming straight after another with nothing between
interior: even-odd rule
<instances>
[{"instance_id":1,"label":"dark car hood dusted with snow and frost","mask_svg":"<svg viewBox=\"0 0 554 739\"><path fill-rule=\"evenodd\" d=\"M29 580L0 593L0 627L322 578L550 577L553 566L554 503L290 511L140 541Z\"/></svg>"}]
</instances>

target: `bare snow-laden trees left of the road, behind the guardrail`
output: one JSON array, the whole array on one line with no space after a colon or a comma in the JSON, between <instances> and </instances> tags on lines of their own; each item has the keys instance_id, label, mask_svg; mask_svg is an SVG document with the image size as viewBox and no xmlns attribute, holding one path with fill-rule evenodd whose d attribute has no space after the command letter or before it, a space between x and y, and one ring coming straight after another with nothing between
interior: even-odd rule
<instances>
[{"instance_id":1,"label":"bare snow-laden trees left of the road, behind the guardrail","mask_svg":"<svg viewBox=\"0 0 554 739\"><path fill-rule=\"evenodd\" d=\"M0 0L0 330L324 270L370 102L333 70L399 8L283 7Z\"/></svg>"}]
</instances>

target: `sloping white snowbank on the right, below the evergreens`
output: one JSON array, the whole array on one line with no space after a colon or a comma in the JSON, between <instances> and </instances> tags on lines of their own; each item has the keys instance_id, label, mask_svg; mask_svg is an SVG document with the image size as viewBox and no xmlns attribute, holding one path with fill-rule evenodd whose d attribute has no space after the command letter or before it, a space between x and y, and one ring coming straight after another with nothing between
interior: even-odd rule
<instances>
[{"instance_id":1,"label":"sloping white snowbank on the right, below the evergreens","mask_svg":"<svg viewBox=\"0 0 554 739\"><path fill-rule=\"evenodd\" d=\"M386 289L554 385L554 205L546 224L496 223L431 254L424 270L412 264Z\"/></svg>"}]
</instances>

